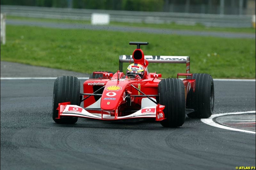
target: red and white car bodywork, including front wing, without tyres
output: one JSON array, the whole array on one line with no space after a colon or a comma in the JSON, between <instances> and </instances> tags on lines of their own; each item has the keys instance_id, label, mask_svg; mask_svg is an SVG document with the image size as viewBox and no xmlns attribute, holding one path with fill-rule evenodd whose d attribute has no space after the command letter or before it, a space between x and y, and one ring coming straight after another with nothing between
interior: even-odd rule
<instances>
[{"instance_id":1,"label":"red and white car bodywork, including front wing, without tyres","mask_svg":"<svg viewBox=\"0 0 256 170\"><path fill-rule=\"evenodd\" d=\"M131 118L156 118L157 121L164 120L164 106L151 101L158 101L158 84L161 81L161 74L148 73L148 60L144 57L144 53L141 49L134 50L132 59L134 63L141 64L144 67L144 77L142 79L128 78L120 71L117 71L113 76L112 73L110 73L110 75L107 72L94 72L93 74L102 74L103 76L102 78L84 81L84 93L88 94L85 95L83 93L83 97L86 98L86 100L84 100L84 108L69 105L70 103L67 102L60 103L58 107L59 118L60 116L77 116L101 120ZM189 58L186 63L187 73L179 73L178 77L192 77L192 74L189 74ZM186 96L190 88L195 91L194 79L184 79L183 83ZM101 88L103 86L104 88ZM90 95L97 90L99 90L97 94L102 94L102 96ZM138 95L153 96L150 96L149 98L151 98L151 100L149 100L146 96L139 97Z\"/></svg>"}]
</instances>

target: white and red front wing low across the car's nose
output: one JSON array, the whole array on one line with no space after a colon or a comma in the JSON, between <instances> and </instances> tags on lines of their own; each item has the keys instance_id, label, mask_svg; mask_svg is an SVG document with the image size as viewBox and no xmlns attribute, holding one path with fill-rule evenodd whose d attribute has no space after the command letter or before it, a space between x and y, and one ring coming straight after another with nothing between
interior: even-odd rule
<instances>
[{"instance_id":1,"label":"white and red front wing low across the car's nose","mask_svg":"<svg viewBox=\"0 0 256 170\"><path fill-rule=\"evenodd\" d=\"M101 114L99 113L89 113L86 111L83 107L77 106L77 105L70 105L70 102L65 103L59 103L59 107L57 110L59 110L58 118L62 116L74 116L74 117L81 117L81 118L89 118L89 119L98 119L98 120L122 120L122 119L133 119L133 118L156 118L156 121L162 121L164 120L164 107L163 105L157 104L154 107L145 107L137 112L127 115L127 116L117 116L117 110L116 115L111 116L110 112L108 114L108 111L101 111Z\"/></svg>"}]
</instances>

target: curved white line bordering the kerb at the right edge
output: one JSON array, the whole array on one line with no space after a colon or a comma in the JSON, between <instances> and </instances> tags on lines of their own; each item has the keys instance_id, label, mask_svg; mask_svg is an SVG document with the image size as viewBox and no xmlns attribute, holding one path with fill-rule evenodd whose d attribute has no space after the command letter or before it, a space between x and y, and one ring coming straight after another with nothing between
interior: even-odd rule
<instances>
[{"instance_id":1,"label":"curved white line bordering the kerb at the right edge","mask_svg":"<svg viewBox=\"0 0 256 170\"><path fill-rule=\"evenodd\" d=\"M211 117L207 118L207 119L201 119L202 122L217 127L217 128L222 128L222 129L227 129L227 130L234 130L234 131L239 131L239 132L246 132L246 133L252 133L252 134L256 134L255 131L251 131L251 130L244 130L244 129L236 129L236 128L231 128L228 126L224 126L224 125L220 125L216 122L214 122L212 119L215 117L220 117L220 116L226 116L226 115L240 115L240 114L248 114L248 113L255 113L256 111L248 111L248 112L233 112L233 113L222 113L222 114L216 114L216 115L212 115Z\"/></svg>"}]
</instances>

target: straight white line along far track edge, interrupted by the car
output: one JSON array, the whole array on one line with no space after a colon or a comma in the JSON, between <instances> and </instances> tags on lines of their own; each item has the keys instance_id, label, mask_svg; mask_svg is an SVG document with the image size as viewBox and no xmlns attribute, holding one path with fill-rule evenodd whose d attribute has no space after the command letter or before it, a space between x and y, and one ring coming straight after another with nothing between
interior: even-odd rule
<instances>
[{"instance_id":1,"label":"straight white line along far track edge, interrupted by the car","mask_svg":"<svg viewBox=\"0 0 256 170\"><path fill-rule=\"evenodd\" d=\"M57 77L1 77L0 80L53 80ZM78 79L89 79L89 77L79 77ZM252 81L255 79L219 79L215 78L214 81Z\"/></svg>"}]
</instances>

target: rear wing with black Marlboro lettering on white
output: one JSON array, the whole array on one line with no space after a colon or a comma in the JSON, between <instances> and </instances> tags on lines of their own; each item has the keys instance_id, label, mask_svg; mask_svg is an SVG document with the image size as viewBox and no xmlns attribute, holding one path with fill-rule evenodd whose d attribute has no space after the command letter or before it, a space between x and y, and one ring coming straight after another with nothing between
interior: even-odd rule
<instances>
[{"instance_id":1,"label":"rear wing with black Marlboro lettering on white","mask_svg":"<svg viewBox=\"0 0 256 170\"><path fill-rule=\"evenodd\" d=\"M186 73L190 72L190 56L145 55L148 63L186 63ZM119 55L119 70L123 72L123 63L133 63L132 55Z\"/></svg>"}]
</instances>

